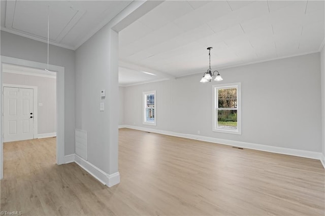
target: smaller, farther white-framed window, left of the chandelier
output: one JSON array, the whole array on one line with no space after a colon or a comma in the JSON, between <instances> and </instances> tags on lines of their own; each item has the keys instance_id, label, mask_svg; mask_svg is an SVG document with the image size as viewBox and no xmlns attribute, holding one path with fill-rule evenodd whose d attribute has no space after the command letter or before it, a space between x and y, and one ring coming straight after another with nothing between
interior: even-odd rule
<instances>
[{"instance_id":1,"label":"smaller, farther white-framed window, left of the chandelier","mask_svg":"<svg viewBox=\"0 0 325 216\"><path fill-rule=\"evenodd\" d=\"M156 91L143 92L143 124L156 126Z\"/></svg>"}]
</instances>

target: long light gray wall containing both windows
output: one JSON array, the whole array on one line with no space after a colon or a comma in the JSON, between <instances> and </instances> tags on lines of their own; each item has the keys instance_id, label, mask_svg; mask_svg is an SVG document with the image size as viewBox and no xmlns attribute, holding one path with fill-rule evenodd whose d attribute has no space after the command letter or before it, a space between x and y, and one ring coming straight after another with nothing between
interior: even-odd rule
<instances>
[{"instance_id":1,"label":"long light gray wall containing both windows","mask_svg":"<svg viewBox=\"0 0 325 216\"><path fill-rule=\"evenodd\" d=\"M124 124L321 152L319 53L220 70L241 82L242 134L212 132L212 85L201 74L124 88ZM156 90L157 126L142 124L142 91ZM128 109L132 107L132 109Z\"/></svg>"}]
</instances>

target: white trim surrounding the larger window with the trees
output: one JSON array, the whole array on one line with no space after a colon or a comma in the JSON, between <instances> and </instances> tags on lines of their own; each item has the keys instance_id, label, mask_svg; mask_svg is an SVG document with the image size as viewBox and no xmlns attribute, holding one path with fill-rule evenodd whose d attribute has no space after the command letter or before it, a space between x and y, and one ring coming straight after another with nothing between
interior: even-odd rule
<instances>
[{"instance_id":1,"label":"white trim surrounding the larger window with the trees","mask_svg":"<svg viewBox=\"0 0 325 216\"><path fill-rule=\"evenodd\" d=\"M218 98L217 98L217 90L223 88L237 88L237 130L226 130L217 128L217 117L216 117L216 109L218 109ZM241 83L229 83L229 84L219 84L212 86L212 131L220 132L220 133L232 133L232 134L242 134L241 129Z\"/></svg>"}]
</instances>

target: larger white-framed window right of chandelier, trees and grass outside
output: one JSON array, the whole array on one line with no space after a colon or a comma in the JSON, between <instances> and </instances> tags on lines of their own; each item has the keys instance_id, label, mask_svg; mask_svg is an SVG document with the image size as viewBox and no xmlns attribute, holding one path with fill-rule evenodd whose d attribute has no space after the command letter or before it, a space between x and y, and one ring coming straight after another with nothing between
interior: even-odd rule
<instances>
[{"instance_id":1,"label":"larger white-framed window right of chandelier, trees and grass outside","mask_svg":"<svg viewBox=\"0 0 325 216\"><path fill-rule=\"evenodd\" d=\"M213 86L213 131L241 134L240 83Z\"/></svg>"}]
</instances>

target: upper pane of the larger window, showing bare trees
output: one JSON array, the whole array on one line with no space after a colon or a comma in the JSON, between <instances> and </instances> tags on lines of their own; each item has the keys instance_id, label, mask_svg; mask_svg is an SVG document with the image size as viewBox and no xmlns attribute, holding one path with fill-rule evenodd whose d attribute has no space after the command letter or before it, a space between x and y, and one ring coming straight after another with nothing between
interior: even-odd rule
<instances>
[{"instance_id":1,"label":"upper pane of the larger window, showing bare trees","mask_svg":"<svg viewBox=\"0 0 325 216\"><path fill-rule=\"evenodd\" d=\"M237 108L237 88L218 89L219 108Z\"/></svg>"}]
</instances>

